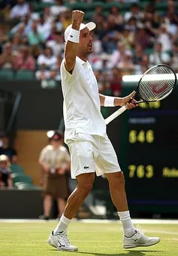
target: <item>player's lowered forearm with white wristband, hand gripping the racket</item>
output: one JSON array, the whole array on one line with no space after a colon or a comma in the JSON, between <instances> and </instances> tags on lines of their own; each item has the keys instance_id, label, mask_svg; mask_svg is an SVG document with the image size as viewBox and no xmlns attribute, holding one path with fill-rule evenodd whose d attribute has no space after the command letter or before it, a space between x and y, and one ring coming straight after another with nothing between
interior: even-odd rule
<instances>
[{"instance_id":1,"label":"player's lowered forearm with white wristband, hand gripping the racket","mask_svg":"<svg viewBox=\"0 0 178 256\"><path fill-rule=\"evenodd\" d=\"M110 97L110 96L105 96L103 94L99 94L99 98L100 98L101 106L126 105L127 109L132 109L133 107L137 106L136 104L133 104L135 100L131 100L134 94L135 94L135 91L132 91L131 94L129 94L126 97ZM130 100L131 102L129 102Z\"/></svg>"}]
</instances>

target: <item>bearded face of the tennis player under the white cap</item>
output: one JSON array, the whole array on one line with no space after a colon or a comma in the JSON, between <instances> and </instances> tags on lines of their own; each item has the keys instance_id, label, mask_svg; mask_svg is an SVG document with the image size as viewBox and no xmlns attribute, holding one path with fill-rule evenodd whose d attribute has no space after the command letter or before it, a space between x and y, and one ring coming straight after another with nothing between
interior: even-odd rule
<instances>
[{"instance_id":1,"label":"bearded face of the tennis player under the white cap","mask_svg":"<svg viewBox=\"0 0 178 256\"><path fill-rule=\"evenodd\" d=\"M92 35L89 29L86 27L85 29L80 31L80 52L84 55L92 54Z\"/></svg>"}]
</instances>

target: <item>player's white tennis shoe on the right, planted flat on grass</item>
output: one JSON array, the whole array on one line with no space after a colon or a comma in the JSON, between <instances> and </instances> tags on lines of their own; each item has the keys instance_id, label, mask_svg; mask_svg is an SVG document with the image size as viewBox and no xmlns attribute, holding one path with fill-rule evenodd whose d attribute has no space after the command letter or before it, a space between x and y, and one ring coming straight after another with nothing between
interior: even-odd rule
<instances>
[{"instance_id":1,"label":"player's white tennis shoe on the right, planted flat on grass","mask_svg":"<svg viewBox=\"0 0 178 256\"><path fill-rule=\"evenodd\" d=\"M123 237L123 248L134 248L137 246L151 246L160 242L159 237L144 236L140 230L135 230L136 233L131 237Z\"/></svg>"}]
</instances>

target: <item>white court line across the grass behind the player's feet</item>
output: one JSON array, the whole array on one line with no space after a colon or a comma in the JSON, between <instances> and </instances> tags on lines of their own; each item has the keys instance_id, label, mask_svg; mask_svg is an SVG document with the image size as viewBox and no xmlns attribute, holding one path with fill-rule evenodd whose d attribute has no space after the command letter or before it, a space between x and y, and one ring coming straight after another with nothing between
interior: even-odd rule
<instances>
[{"instance_id":1,"label":"white court line across the grass behind the player's feet","mask_svg":"<svg viewBox=\"0 0 178 256\"><path fill-rule=\"evenodd\" d=\"M73 222L81 222L81 223L98 223L98 224L107 224L107 223L117 223L118 221L111 220L94 220L94 219L83 219L77 220L74 219ZM0 219L0 223L49 223L49 222L57 222L56 220L50 221L42 221L36 219ZM157 219L132 219L133 224L178 224L178 220L157 220Z\"/></svg>"}]
</instances>

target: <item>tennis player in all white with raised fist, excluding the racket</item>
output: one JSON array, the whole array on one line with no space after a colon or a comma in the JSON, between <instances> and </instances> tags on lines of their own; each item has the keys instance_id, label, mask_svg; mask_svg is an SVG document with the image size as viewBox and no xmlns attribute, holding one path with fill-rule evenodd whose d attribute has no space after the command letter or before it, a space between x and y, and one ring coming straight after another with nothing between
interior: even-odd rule
<instances>
[{"instance_id":1,"label":"tennis player in all white with raised fist, excluding the racket","mask_svg":"<svg viewBox=\"0 0 178 256\"><path fill-rule=\"evenodd\" d=\"M64 96L65 143L71 153L71 177L77 187L68 198L65 211L56 229L50 233L48 243L59 251L77 251L67 236L68 225L80 205L92 190L97 175L105 174L110 195L116 206L123 228L123 247L155 245L158 237L148 237L136 230L131 222L125 195L124 175L116 153L106 133L101 106L135 107L131 97L105 97L98 94L98 84L87 61L92 54L92 29L95 23L83 22L83 11L72 12L72 24L65 29L65 58L62 60L62 92ZM129 103L131 100L131 103Z\"/></svg>"}]
</instances>

